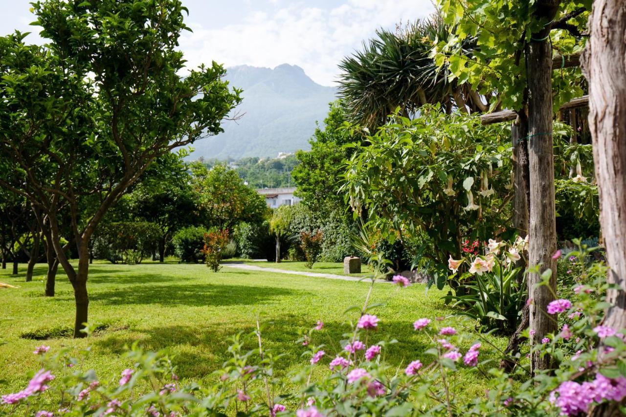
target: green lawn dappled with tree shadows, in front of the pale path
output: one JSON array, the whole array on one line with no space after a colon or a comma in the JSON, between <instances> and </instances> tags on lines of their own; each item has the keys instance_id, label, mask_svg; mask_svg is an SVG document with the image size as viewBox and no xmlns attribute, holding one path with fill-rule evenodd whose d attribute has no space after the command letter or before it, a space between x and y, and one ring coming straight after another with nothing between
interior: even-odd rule
<instances>
[{"instance_id":1,"label":"green lawn dappled with tree shadows, in front of the pale path","mask_svg":"<svg viewBox=\"0 0 626 417\"><path fill-rule=\"evenodd\" d=\"M255 262L254 264L260 264ZM266 264L267 265L267 264ZM272 264L275 265L275 264ZM316 264L314 272L337 273L341 264ZM280 264L280 268L299 268L297 264ZM20 265L24 270L24 265ZM302 346L295 343L299 331L322 319L326 326L316 332L329 356L341 349L339 341L348 331L344 311L362 305L367 282L337 281L299 275L273 274L223 268L210 272L205 265L141 264L91 265L90 322L108 327L88 339L63 337L73 323L74 300L71 286L59 269L57 295L43 296L45 266L38 265L33 282L23 282L0 270L0 281L18 285L19 289L0 289L0 393L23 388L28 383L25 371L38 366L33 349L42 343L52 349L82 349L91 346L92 354L83 364L93 368L102 381L115 375L130 363L124 358L125 346L139 341L150 350L165 349L175 356L178 374L184 379L208 383L227 360L228 337L239 331L252 331L255 316L267 325L264 332L266 348L285 353L279 372L298 369L307 359L300 358ZM425 291L423 285L407 289L391 284L374 285L371 304L382 303L374 311L381 319L374 339L398 339L389 348L387 361L406 366L408 361L424 361L426 337L413 331L412 323L419 317L444 317L451 310L443 304L442 292ZM352 319L356 313L352 312ZM455 322L455 319L449 319ZM458 324L458 323L457 323ZM56 335L45 341L23 336ZM492 338L504 346L503 338ZM469 345L468 345L469 346ZM463 346L462 349L467 349ZM254 348L252 342L250 349ZM484 359L484 358L483 358ZM330 359L321 363L319 372L327 372ZM485 381L478 374L459 369L456 378L463 381L464 395L484 395Z\"/></svg>"}]
</instances>

